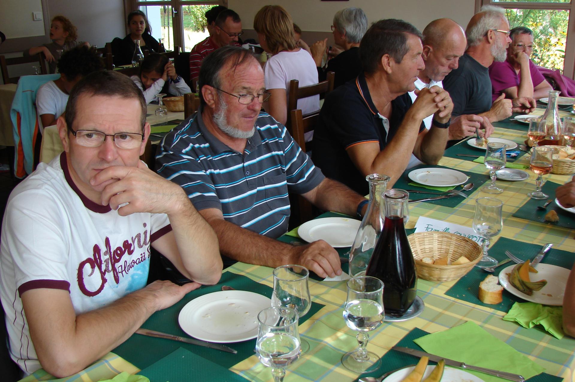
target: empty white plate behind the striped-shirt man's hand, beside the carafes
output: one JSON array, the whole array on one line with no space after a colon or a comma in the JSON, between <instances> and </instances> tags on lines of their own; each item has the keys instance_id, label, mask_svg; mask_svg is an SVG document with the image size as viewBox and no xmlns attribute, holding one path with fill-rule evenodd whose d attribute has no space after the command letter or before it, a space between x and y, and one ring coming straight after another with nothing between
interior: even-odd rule
<instances>
[{"instance_id":1,"label":"empty white plate behind the striped-shirt man's hand, beside the carafes","mask_svg":"<svg viewBox=\"0 0 575 382\"><path fill-rule=\"evenodd\" d=\"M325 240L333 248L346 248L354 244L361 221L352 218L321 218L303 223L297 234L308 243Z\"/></svg>"}]
</instances>

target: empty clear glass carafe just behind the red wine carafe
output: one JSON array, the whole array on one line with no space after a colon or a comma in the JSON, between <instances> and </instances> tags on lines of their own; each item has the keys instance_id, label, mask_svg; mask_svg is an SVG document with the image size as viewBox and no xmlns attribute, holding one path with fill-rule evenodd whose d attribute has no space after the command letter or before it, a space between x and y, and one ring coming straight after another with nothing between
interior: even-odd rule
<instances>
[{"instance_id":1,"label":"empty clear glass carafe just behind the red wine carafe","mask_svg":"<svg viewBox=\"0 0 575 382\"><path fill-rule=\"evenodd\" d=\"M383 218L379 213L379 198L385 191L389 182L389 176L373 173L365 177L369 183L369 204L358 233L355 235L354 244L350 250L350 276L363 276L367 264L375 248L375 243L384 225Z\"/></svg>"}]
</instances>

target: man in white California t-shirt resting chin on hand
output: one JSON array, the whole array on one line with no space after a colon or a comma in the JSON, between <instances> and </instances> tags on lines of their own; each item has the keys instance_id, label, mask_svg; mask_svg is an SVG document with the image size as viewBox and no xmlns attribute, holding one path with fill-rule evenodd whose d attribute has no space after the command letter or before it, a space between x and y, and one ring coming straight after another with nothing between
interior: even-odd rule
<instances>
[{"instance_id":1,"label":"man in white California t-shirt resting chin on hand","mask_svg":"<svg viewBox=\"0 0 575 382\"><path fill-rule=\"evenodd\" d=\"M10 195L0 299L11 357L26 374L79 372L155 311L221 277L212 228L181 187L139 160L145 112L127 76L86 76L57 119L64 152ZM192 282L146 286L150 245Z\"/></svg>"}]
</instances>

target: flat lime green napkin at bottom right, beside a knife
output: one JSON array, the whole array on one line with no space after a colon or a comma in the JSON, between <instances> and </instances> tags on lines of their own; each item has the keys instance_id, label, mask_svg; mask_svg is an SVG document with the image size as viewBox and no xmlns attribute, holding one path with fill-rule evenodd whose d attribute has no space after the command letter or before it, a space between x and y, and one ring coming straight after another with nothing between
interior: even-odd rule
<instances>
[{"instance_id":1,"label":"flat lime green napkin at bottom right, beside a knife","mask_svg":"<svg viewBox=\"0 0 575 382\"><path fill-rule=\"evenodd\" d=\"M530 379L545 370L472 321L425 335L414 341L427 353L465 362L469 365L520 374L525 379ZM485 382L501 382L498 377L469 369L466 371L480 377Z\"/></svg>"}]
</instances>

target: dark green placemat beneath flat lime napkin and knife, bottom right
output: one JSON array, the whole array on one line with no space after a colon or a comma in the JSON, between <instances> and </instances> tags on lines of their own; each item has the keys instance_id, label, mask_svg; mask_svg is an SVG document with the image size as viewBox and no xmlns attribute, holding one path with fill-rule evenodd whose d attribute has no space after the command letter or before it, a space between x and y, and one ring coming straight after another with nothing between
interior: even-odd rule
<instances>
[{"instance_id":1,"label":"dark green placemat beneath flat lime napkin and knife, bottom right","mask_svg":"<svg viewBox=\"0 0 575 382\"><path fill-rule=\"evenodd\" d=\"M399 342L397 342L397 346L403 346L404 348L411 348L416 350L423 350L419 345L413 342L415 339L423 337L424 335L428 335L425 330L421 330L418 327L414 328L413 330L409 331L408 334L405 335ZM381 357L381 366L376 371L371 373L364 373L360 377L379 377L384 373L389 371L402 368L409 365L415 365L419 362L419 358L416 356L412 356L410 354L398 352L397 350L390 349L389 352L385 353L383 357ZM430 364L435 364L435 362L430 362ZM356 379L355 381L358 381ZM536 375L528 381L531 382L561 382L563 379L561 377L557 377L554 375L550 375L547 373L541 373ZM501 379L503 382L504 380Z\"/></svg>"}]
</instances>

